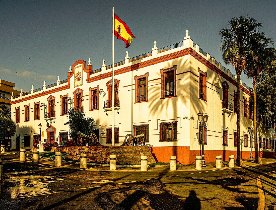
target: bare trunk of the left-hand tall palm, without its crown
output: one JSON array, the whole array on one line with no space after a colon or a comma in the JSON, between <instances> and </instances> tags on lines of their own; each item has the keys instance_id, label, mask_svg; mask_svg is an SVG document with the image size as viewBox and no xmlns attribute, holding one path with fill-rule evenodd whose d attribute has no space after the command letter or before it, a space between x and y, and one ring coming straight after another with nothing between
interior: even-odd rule
<instances>
[{"instance_id":1,"label":"bare trunk of the left-hand tall palm, without its crown","mask_svg":"<svg viewBox=\"0 0 276 210\"><path fill-rule=\"evenodd\" d=\"M241 160L241 148L240 148L240 77L241 77L241 71L237 69L237 160L236 165L237 166L245 166L243 161Z\"/></svg>"}]
</instances>

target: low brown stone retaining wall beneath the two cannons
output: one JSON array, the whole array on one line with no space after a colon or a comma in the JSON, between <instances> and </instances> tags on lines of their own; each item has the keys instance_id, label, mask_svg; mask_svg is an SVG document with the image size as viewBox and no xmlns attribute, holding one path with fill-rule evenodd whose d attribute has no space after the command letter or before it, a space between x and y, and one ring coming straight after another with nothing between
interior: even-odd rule
<instances>
[{"instance_id":1,"label":"low brown stone retaining wall beneath the two cannons","mask_svg":"<svg viewBox=\"0 0 276 210\"><path fill-rule=\"evenodd\" d=\"M142 155L147 156L147 163L156 163L148 147L129 146L72 146L53 147L51 151L67 152L65 158L79 160L80 154L87 154L87 162L109 163L109 156L116 155L117 164L140 164Z\"/></svg>"}]
</instances>

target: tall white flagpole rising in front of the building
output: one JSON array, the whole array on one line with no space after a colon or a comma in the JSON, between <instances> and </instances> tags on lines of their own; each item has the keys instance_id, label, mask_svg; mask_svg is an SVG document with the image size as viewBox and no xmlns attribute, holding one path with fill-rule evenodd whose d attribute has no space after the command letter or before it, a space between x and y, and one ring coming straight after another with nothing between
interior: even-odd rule
<instances>
[{"instance_id":1,"label":"tall white flagpole rising in front of the building","mask_svg":"<svg viewBox=\"0 0 276 210\"><path fill-rule=\"evenodd\" d=\"M113 18L112 18L112 144L115 145L115 120L114 120L114 115L115 115L115 110L114 110L114 104L115 104L115 90L114 90L114 7L113 7Z\"/></svg>"}]
</instances>

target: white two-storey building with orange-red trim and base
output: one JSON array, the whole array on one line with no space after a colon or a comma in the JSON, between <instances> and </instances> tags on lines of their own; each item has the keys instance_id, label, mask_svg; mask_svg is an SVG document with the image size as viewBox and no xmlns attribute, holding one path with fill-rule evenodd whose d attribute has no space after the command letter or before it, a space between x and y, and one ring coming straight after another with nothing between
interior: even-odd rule
<instances>
[{"instance_id":1,"label":"white two-storey building with orange-red trim and base","mask_svg":"<svg viewBox=\"0 0 276 210\"><path fill-rule=\"evenodd\" d=\"M115 145L126 134L144 133L156 161L169 162L176 155L191 163L201 154L201 129L197 113L209 116L205 131L206 161L222 155L236 156L236 81L230 73L188 36L183 41L158 49L156 42L146 54L115 63ZM102 145L111 145L112 65L92 70L84 60L76 61L68 79L12 97L12 119L17 124L12 149L30 149L34 142L61 142L70 139L67 110L81 108L95 119ZM250 157L254 138L253 106L249 87L241 85L241 154ZM185 117L187 116L187 117ZM193 118L192 118L193 117ZM38 124L42 135L39 139ZM206 132L207 131L207 132ZM274 126L258 123L261 157L275 154Z\"/></svg>"}]
</instances>

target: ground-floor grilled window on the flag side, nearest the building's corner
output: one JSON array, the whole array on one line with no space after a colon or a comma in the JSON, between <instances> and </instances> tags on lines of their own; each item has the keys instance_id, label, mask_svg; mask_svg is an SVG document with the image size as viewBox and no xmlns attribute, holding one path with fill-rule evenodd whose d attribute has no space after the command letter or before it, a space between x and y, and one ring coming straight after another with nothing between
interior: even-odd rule
<instances>
[{"instance_id":1,"label":"ground-floor grilled window on the flag side, nearest the building's corner","mask_svg":"<svg viewBox=\"0 0 276 210\"><path fill-rule=\"evenodd\" d=\"M177 141L177 122L159 123L160 142Z\"/></svg>"}]
</instances>

